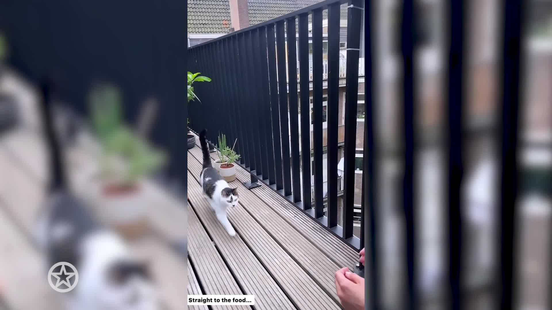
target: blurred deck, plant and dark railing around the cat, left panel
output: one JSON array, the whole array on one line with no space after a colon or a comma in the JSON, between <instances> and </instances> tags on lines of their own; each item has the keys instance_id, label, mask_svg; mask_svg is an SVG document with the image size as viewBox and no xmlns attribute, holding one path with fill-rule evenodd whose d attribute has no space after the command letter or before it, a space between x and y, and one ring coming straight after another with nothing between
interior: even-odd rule
<instances>
[{"instance_id":1,"label":"blurred deck, plant and dark railing around the cat, left panel","mask_svg":"<svg viewBox=\"0 0 552 310\"><path fill-rule=\"evenodd\" d=\"M33 239L50 180L46 82L72 190L146 260L160 309L186 307L186 152L174 147L187 118L185 6L0 3L0 309L62 307Z\"/></svg>"}]
</instances>

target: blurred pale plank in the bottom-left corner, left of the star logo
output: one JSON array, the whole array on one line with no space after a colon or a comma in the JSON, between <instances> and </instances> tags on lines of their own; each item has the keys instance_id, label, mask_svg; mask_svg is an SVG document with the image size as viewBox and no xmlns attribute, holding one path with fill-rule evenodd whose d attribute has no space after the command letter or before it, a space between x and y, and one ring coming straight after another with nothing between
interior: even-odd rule
<instances>
[{"instance_id":1,"label":"blurred pale plank in the bottom-left corner, left of the star logo","mask_svg":"<svg viewBox=\"0 0 552 310\"><path fill-rule=\"evenodd\" d=\"M60 309L59 293L48 284L44 261L5 211L0 201L0 296L10 309Z\"/></svg>"}]
</instances>

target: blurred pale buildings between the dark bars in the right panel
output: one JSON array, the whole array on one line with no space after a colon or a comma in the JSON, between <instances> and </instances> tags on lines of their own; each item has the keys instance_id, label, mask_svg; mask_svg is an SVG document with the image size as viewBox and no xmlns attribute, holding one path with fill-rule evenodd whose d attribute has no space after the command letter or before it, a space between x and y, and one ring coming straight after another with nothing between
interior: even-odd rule
<instances>
[{"instance_id":1,"label":"blurred pale buildings between the dark bars in the right panel","mask_svg":"<svg viewBox=\"0 0 552 310\"><path fill-rule=\"evenodd\" d=\"M445 308L448 283L448 15L440 0L414 1L415 206L417 287L422 308ZM552 177L552 2L522 1L518 193L514 260L517 309L549 309ZM402 201L402 1L375 5L378 56L376 144L381 150L378 217L382 302L405 308ZM461 183L466 309L500 308L493 300L500 242L501 78L504 2L464 1L464 161ZM508 22L507 22L508 23ZM452 141L462 143L462 141ZM397 195L398 194L398 195ZM401 255L396 255L401 254Z\"/></svg>"}]
</instances>

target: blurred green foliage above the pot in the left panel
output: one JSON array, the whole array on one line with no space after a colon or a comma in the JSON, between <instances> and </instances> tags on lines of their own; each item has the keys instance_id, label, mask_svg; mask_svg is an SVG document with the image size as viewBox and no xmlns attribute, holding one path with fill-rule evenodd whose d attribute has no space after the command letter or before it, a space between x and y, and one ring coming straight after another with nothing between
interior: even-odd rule
<instances>
[{"instance_id":1,"label":"blurred green foliage above the pot in the left panel","mask_svg":"<svg viewBox=\"0 0 552 310\"><path fill-rule=\"evenodd\" d=\"M128 186L158 169L164 153L152 148L123 122L121 96L114 87L95 89L90 97L92 122L102 146L102 177Z\"/></svg>"}]
</instances>

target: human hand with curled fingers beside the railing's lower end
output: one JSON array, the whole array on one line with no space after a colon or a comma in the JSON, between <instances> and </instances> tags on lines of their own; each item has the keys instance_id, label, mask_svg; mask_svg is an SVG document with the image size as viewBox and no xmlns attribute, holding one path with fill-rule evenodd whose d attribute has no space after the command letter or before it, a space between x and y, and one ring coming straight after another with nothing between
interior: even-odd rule
<instances>
[{"instance_id":1,"label":"human hand with curled fingers beside the railing's lower end","mask_svg":"<svg viewBox=\"0 0 552 310\"><path fill-rule=\"evenodd\" d=\"M345 310L364 309L364 278L347 267L336 272L336 291Z\"/></svg>"}]
</instances>

